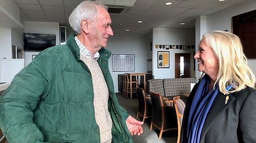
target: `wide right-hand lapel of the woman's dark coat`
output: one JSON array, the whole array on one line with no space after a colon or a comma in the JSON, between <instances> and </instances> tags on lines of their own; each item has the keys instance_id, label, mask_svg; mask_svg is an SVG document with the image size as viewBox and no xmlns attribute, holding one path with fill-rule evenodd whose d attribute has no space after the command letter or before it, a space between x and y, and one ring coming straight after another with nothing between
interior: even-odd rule
<instances>
[{"instance_id":1,"label":"wide right-hand lapel of the woman's dark coat","mask_svg":"<svg viewBox=\"0 0 256 143\"><path fill-rule=\"evenodd\" d=\"M229 99L227 101L227 104L225 104L226 95L224 95L223 93L219 93L216 96L214 102L212 103L212 105L210 107L208 115L206 116L206 119L204 121L204 126L203 126L202 134L200 137L201 140L202 140L202 138L205 137L205 134L209 130L211 124L214 122L216 117L218 117L221 112L223 112L229 106L231 106L232 102L234 102L236 100L236 97L234 96L234 94L229 94L228 96L229 96Z\"/></svg>"}]
</instances>

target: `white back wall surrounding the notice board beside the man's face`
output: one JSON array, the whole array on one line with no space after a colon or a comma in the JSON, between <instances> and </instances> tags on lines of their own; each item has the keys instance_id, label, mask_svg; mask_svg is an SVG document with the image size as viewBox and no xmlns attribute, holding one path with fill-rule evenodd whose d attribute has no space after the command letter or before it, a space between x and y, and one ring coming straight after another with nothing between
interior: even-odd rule
<instances>
[{"instance_id":1,"label":"white back wall surrounding the notice board beside the man's face","mask_svg":"<svg viewBox=\"0 0 256 143\"><path fill-rule=\"evenodd\" d=\"M123 36L114 35L108 40L106 49L112 51L112 54L135 54L135 71L147 72L147 45L148 38L146 36ZM113 72L113 56L109 59L109 68L112 75L115 92L118 92L118 74L127 72ZM130 73L130 72L129 72Z\"/></svg>"}]
</instances>

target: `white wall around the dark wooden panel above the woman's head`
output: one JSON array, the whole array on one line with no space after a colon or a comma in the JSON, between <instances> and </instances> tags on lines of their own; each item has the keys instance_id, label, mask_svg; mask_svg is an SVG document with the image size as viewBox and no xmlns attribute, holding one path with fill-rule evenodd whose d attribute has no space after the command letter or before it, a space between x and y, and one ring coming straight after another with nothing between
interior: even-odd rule
<instances>
[{"instance_id":1,"label":"white wall around the dark wooden panel above the woman's head","mask_svg":"<svg viewBox=\"0 0 256 143\"><path fill-rule=\"evenodd\" d=\"M222 11L210 14L207 16L207 31L212 30L228 30L231 31L231 19L232 16L236 16L245 12L255 10L256 1L248 0L241 4L235 5L233 7L224 9ZM251 68L254 75L256 75L256 60L248 60L248 65Z\"/></svg>"}]
</instances>

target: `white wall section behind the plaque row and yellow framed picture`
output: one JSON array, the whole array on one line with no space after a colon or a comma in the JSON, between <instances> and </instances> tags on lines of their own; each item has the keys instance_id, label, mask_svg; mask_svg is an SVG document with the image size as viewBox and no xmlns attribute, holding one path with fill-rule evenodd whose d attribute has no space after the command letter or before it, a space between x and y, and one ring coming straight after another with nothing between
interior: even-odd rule
<instances>
[{"instance_id":1,"label":"white wall section behind the plaque row and yellow framed picture","mask_svg":"<svg viewBox=\"0 0 256 143\"><path fill-rule=\"evenodd\" d=\"M195 45L195 30L180 28L153 28L153 55L152 69L155 78L175 78L175 53L190 53L190 73L195 77L194 71L194 49L179 50L169 49L169 68L157 68L157 51L168 51L156 49L156 44L169 45Z\"/></svg>"}]
</instances>

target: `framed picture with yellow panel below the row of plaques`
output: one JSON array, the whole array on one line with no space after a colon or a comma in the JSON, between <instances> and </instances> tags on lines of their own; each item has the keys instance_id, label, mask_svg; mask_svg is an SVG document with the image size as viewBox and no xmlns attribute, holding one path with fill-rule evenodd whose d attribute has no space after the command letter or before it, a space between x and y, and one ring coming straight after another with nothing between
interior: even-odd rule
<instances>
[{"instance_id":1,"label":"framed picture with yellow panel below the row of plaques","mask_svg":"<svg viewBox=\"0 0 256 143\"><path fill-rule=\"evenodd\" d=\"M169 68L169 51L157 51L157 68Z\"/></svg>"}]
</instances>

